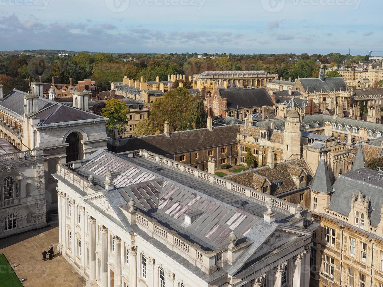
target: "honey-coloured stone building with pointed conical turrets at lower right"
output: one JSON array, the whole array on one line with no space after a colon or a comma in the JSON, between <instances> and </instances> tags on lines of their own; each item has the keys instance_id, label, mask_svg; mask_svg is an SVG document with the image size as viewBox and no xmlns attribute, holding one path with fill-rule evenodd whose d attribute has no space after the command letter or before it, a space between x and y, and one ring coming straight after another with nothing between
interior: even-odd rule
<instances>
[{"instance_id":1,"label":"honey-coloured stone building with pointed conical turrets at lower right","mask_svg":"<svg viewBox=\"0 0 383 287\"><path fill-rule=\"evenodd\" d=\"M324 157L311 186L314 236L310 286L383 285L382 174L365 168L362 147L352 170L331 184Z\"/></svg>"}]
</instances>

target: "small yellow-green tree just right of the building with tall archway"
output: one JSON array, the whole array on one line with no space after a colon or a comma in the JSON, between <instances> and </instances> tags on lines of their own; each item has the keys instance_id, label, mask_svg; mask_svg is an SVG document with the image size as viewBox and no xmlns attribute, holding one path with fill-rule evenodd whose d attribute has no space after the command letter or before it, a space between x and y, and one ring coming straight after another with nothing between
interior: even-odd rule
<instances>
[{"instance_id":1,"label":"small yellow-green tree just right of the building with tall archway","mask_svg":"<svg viewBox=\"0 0 383 287\"><path fill-rule=\"evenodd\" d=\"M108 99L105 101L105 108L102 109L102 116L110 119L106 125L108 129L118 128L120 132L125 130L128 124L129 108L119 99Z\"/></svg>"}]
</instances>

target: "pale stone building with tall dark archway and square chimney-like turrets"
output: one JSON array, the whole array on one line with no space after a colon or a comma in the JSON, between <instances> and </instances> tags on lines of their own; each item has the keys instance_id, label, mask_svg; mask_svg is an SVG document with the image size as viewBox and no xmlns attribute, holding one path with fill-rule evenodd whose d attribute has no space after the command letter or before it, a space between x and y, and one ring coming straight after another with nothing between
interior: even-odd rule
<instances>
[{"instance_id":1,"label":"pale stone building with tall dark archway and square chimney-like turrets","mask_svg":"<svg viewBox=\"0 0 383 287\"><path fill-rule=\"evenodd\" d=\"M44 188L54 208L57 182L51 174L56 173L56 165L106 148L108 119L86 112L88 91L75 91L72 107L45 99L42 83L31 83L31 89L34 93L13 89L5 96L0 89L0 138L21 151L43 151Z\"/></svg>"}]
</instances>

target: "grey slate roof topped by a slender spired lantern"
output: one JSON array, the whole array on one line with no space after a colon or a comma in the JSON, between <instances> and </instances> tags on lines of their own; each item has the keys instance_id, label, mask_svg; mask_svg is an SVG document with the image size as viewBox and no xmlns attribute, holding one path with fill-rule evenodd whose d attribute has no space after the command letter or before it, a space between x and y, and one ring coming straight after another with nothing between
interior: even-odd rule
<instances>
[{"instance_id":1,"label":"grey slate roof topped by a slender spired lantern","mask_svg":"<svg viewBox=\"0 0 383 287\"><path fill-rule=\"evenodd\" d=\"M325 91L348 91L346 82L343 78L325 78L322 82L319 78L301 78L298 81L301 81L301 84L304 88L304 91L308 89L309 93L314 93L314 90L320 92Z\"/></svg>"}]
</instances>

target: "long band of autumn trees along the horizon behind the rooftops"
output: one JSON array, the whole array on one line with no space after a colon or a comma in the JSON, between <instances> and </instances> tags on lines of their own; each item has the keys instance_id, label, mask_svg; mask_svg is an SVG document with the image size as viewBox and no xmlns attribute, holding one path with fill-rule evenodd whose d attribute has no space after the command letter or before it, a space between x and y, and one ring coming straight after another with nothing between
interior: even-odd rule
<instances>
[{"instance_id":1,"label":"long band of autumn trees along the horizon behind the rooftops","mask_svg":"<svg viewBox=\"0 0 383 287\"><path fill-rule=\"evenodd\" d=\"M90 78L100 86L100 90L109 90L110 82L121 82L126 75L128 78L147 81L167 80L169 74L198 74L212 70L264 70L277 73L283 78L318 77L320 60L324 64L340 66L343 60L359 62L368 60L368 56L350 56L339 53L329 55L295 54L203 54L205 59L198 59L198 54L169 53L169 54L88 54L80 52L77 55L61 58L59 56L39 55L2 55L0 56L0 83L4 92L12 88L27 91L28 76L35 81L41 76L44 83L51 83L52 77L58 77L59 83L69 83Z\"/></svg>"}]
</instances>

